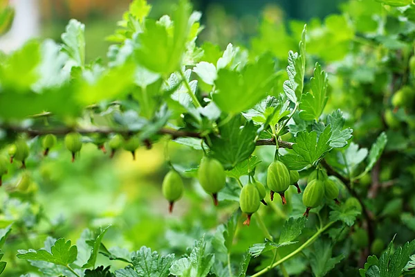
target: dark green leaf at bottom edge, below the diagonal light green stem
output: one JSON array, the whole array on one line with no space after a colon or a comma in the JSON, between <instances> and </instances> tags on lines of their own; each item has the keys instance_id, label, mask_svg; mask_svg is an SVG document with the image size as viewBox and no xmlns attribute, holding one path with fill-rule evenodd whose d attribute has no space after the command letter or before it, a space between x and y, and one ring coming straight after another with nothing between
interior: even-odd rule
<instances>
[{"instance_id":1,"label":"dark green leaf at bottom edge, below the diagonal light green stem","mask_svg":"<svg viewBox=\"0 0 415 277\"><path fill-rule=\"evenodd\" d=\"M310 260L313 276L326 276L343 258L344 254L332 258L333 246L329 240L319 239L313 243L311 249L306 251Z\"/></svg>"}]
</instances>

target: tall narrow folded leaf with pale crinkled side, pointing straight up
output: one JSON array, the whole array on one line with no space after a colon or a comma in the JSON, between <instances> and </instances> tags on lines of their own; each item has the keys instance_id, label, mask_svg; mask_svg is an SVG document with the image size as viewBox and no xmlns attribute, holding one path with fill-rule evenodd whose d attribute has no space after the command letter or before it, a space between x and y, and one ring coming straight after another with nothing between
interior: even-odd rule
<instances>
[{"instance_id":1,"label":"tall narrow folded leaf with pale crinkled side, pointing straight up","mask_svg":"<svg viewBox=\"0 0 415 277\"><path fill-rule=\"evenodd\" d=\"M302 31L302 40L299 42L299 53L288 52L288 80L284 82L284 92L289 100L297 103L302 97L304 88L304 74L306 72L306 25Z\"/></svg>"}]
</instances>

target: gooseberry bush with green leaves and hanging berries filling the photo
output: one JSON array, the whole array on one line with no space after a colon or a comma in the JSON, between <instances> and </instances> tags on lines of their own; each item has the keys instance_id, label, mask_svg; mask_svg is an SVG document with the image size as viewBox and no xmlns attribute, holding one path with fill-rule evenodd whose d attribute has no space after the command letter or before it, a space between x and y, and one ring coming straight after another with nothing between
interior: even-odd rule
<instances>
[{"instance_id":1,"label":"gooseberry bush with green leaves and hanging berries filling the photo","mask_svg":"<svg viewBox=\"0 0 415 277\"><path fill-rule=\"evenodd\" d=\"M224 51L196 40L201 13L186 0L160 19L150 10L131 3L107 37L107 63L86 63L85 26L75 19L61 44L33 40L0 55L1 274L415 273L411 1L351 0L307 24L266 17L248 46ZM106 247L117 222L76 243L59 237L62 222L37 197L48 182L42 163L64 157L69 171L88 145L146 163L137 149L160 144L169 170L158 206L190 214L188 225L212 221L213 211L214 228L170 232L157 251ZM169 145L181 145L179 157ZM70 201L82 195L66 191Z\"/></svg>"}]
</instances>

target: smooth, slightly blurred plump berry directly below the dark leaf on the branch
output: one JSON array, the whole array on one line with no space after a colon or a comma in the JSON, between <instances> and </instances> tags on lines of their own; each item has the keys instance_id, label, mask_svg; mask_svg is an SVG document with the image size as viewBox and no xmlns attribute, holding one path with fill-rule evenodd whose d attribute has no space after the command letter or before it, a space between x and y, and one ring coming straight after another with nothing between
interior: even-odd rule
<instances>
[{"instance_id":1,"label":"smooth, slightly blurred plump berry directly below the dark leaf on the branch","mask_svg":"<svg viewBox=\"0 0 415 277\"><path fill-rule=\"evenodd\" d=\"M214 205L217 206L219 190L226 184L226 175L222 164L216 159L203 157L197 175L203 190L212 195Z\"/></svg>"}]
</instances>

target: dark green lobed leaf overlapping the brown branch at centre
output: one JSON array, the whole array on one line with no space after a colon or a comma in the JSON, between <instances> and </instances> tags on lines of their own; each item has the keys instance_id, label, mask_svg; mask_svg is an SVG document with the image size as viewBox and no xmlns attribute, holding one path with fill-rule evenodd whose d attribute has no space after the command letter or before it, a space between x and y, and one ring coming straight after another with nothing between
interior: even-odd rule
<instances>
[{"instance_id":1,"label":"dark green lobed leaf overlapping the brown branch at centre","mask_svg":"<svg viewBox=\"0 0 415 277\"><path fill-rule=\"evenodd\" d=\"M257 127L252 121L241 128L239 116L234 116L228 123L219 127L221 136L211 134L209 147L212 156L218 159L225 169L231 169L245 161L255 150Z\"/></svg>"}]
</instances>

